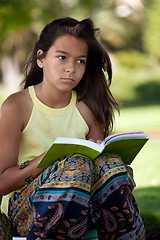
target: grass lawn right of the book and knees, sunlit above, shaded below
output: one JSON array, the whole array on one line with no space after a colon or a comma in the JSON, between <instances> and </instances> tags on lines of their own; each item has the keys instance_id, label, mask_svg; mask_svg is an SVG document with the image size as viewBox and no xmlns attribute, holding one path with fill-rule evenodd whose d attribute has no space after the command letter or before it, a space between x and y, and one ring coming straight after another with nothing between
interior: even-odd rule
<instances>
[{"instance_id":1,"label":"grass lawn right of the book and knees, sunlit above, shaded below","mask_svg":"<svg viewBox=\"0 0 160 240\"><path fill-rule=\"evenodd\" d=\"M143 130L149 141L131 164L134 196L147 228L160 228L160 106L122 108L115 131Z\"/></svg>"}]
</instances>

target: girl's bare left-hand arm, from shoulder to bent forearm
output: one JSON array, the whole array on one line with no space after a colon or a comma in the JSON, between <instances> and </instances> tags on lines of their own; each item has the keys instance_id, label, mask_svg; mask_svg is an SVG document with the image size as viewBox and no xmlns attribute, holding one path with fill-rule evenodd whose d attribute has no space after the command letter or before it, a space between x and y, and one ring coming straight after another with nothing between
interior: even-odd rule
<instances>
[{"instance_id":1,"label":"girl's bare left-hand arm, from shoulder to bent forearm","mask_svg":"<svg viewBox=\"0 0 160 240\"><path fill-rule=\"evenodd\" d=\"M44 169L36 165L43 154L29 162L24 169L17 166L21 131L24 124L24 97L10 96L0 111L0 195L25 186L24 178L37 177ZM23 108L21 107L23 105Z\"/></svg>"}]
</instances>

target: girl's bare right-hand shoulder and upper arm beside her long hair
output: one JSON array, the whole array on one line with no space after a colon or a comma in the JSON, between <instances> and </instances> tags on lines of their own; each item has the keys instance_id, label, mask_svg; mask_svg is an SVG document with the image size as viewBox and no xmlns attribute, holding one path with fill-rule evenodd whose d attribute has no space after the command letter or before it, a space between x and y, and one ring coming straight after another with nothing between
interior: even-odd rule
<instances>
[{"instance_id":1,"label":"girl's bare right-hand shoulder and upper arm beside her long hair","mask_svg":"<svg viewBox=\"0 0 160 240\"><path fill-rule=\"evenodd\" d=\"M89 127L87 139L93 139L95 141L99 139L103 140L104 126L95 117L91 109L85 104L84 101L77 102L77 108Z\"/></svg>"}]
</instances>

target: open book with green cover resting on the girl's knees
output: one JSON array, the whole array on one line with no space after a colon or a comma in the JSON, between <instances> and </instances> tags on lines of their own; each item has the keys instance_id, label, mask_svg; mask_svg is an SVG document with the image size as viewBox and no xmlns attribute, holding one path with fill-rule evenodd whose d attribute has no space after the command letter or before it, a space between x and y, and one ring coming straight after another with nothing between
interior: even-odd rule
<instances>
[{"instance_id":1,"label":"open book with green cover resting on the girl's knees","mask_svg":"<svg viewBox=\"0 0 160 240\"><path fill-rule=\"evenodd\" d=\"M74 153L85 155L93 160L104 152L119 154L123 162L129 165L147 141L148 137L143 131L112 134L101 144L77 138L58 137L37 167L49 167L59 158Z\"/></svg>"}]
</instances>

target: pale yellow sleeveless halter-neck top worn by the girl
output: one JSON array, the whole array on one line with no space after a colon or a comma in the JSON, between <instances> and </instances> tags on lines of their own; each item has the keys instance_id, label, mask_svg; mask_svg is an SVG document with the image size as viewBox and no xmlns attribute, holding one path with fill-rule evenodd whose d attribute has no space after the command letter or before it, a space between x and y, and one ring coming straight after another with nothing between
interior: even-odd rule
<instances>
[{"instance_id":1,"label":"pale yellow sleeveless halter-neck top worn by the girl","mask_svg":"<svg viewBox=\"0 0 160 240\"><path fill-rule=\"evenodd\" d=\"M57 137L86 138L89 128L76 107L75 91L66 107L53 109L36 97L34 86L28 89L33 109L21 134L18 164L45 152Z\"/></svg>"}]
</instances>

